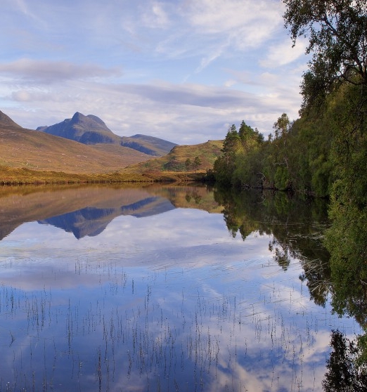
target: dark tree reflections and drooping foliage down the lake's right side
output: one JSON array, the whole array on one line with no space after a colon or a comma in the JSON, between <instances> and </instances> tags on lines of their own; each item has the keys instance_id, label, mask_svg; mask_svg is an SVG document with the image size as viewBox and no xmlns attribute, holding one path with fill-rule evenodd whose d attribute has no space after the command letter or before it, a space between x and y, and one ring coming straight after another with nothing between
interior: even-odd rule
<instances>
[{"instance_id":1,"label":"dark tree reflections and drooping foliage down the lake's right side","mask_svg":"<svg viewBox=\"0 0 367 392\"><path fill-rule=\"evenodd\" d=\"M327 361L325 391L367 390L367 211L352 202L328 205L323 200L300 200L284 192L216 192L224 206L229 232L243 240L257 231L272 235L269 250L287 270L300 260L310 299L325 306L330 295L333 311L354 317L366 331L350 341L333 331L333 351ZM259 208L260 207L260 208Z\"/></svg>"}]
</instances>

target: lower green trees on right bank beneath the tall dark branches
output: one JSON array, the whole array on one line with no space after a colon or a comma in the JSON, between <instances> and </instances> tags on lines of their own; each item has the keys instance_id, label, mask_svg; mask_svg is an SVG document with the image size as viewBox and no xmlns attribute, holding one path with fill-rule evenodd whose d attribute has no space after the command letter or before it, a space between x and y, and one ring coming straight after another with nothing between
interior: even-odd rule
<instances>
[{"instance_id":1,"label":"lower green trees on right bank beneath the tall dark branches","mask_svg":"<svg viewBox=\"0 0 367 392\"><path fill-rule=\"evenodd\" d=\"M345 84L328 96L323 107L304 110L295 122L283 113L266 141L245 122L238 131L232 125L223 154L214 163L215 180L238 188L293 190L327 197L342 178L349 178L345 186L356 192L357 188L366 190L363 114L367 107L362 92L361 86Z\"/></svg>"}]
</instances>

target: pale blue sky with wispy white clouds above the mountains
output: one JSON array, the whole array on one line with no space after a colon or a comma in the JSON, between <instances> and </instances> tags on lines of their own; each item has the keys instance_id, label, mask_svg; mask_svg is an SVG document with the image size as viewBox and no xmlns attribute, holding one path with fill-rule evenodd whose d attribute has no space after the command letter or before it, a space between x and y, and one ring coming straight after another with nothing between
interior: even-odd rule
<instances>
[{"instance_id":1,"label":"pale blue sky with wispy white clouds above the mountains","mask_svg":"<svg viewBox=\"0 0 367 392\"><path fill-rule=\"evenodd\" d=\"M306 43L278 0L1 0L0 110L37 129L96 115L181 145L297 119Z\"/></svg>"}]
</instances>

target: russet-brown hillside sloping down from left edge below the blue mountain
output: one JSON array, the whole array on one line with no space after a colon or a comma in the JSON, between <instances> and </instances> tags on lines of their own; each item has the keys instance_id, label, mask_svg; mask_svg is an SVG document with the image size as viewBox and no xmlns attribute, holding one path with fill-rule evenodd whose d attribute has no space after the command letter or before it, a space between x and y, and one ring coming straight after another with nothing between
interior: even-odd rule
<instances>
[{"instance_id":1,"label":"russet-brown hillside sloping down from left edge below the blue mountain","mask_svg":"<svg viewBox=\"0 0 367 392\"><path fill-rule=\"evenodd\" d=\"M37 171L108 173L143 162L150 155L121 145L84 145L24 129L0 112L0 165Z\"/></svg>"}]
</instances>

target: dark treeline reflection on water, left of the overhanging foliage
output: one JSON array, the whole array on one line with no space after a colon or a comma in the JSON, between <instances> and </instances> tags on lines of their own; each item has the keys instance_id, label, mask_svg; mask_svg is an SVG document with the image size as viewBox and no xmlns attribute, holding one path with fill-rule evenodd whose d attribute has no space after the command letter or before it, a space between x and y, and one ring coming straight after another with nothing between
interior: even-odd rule
<instances>
[{"instance_id":1,"label":"dark treeline reflection on water, left of the overhanging foliage","mask_svg":"<svg viewBox=\"0 0 367 392\"><path fill-rule=\"evenodd\" d=\"M324 306L330 292L330 254L323 246L323 233L328 227L325 200L300 199L285 192L231 192L217 190L217 202L224 206L228 231L243 240L257 231L272 235L269 250L283 270L290 261L299 259L310 298Z\"/></svg>"}]
</instances>

